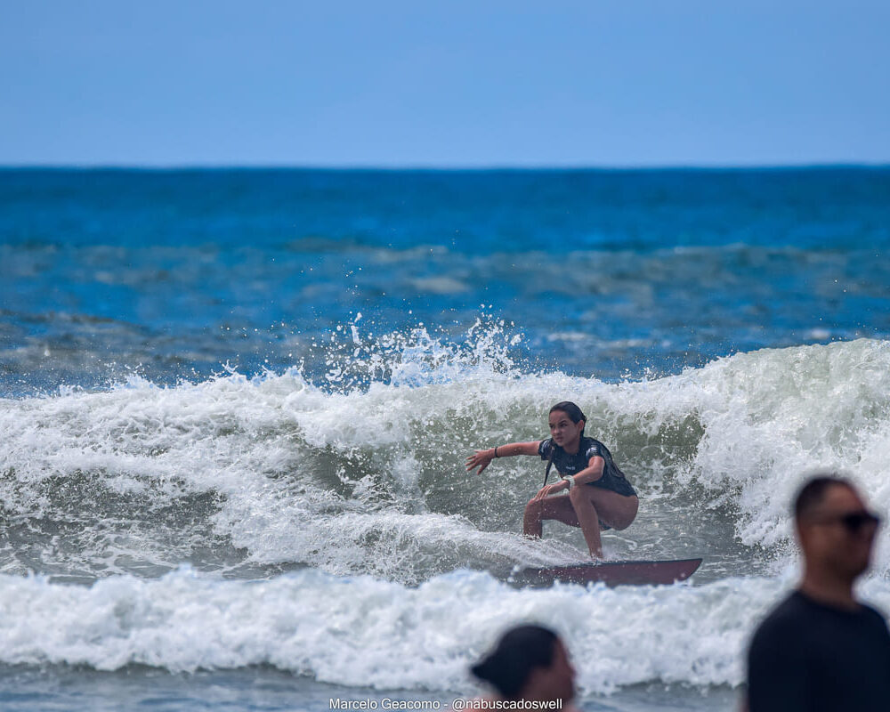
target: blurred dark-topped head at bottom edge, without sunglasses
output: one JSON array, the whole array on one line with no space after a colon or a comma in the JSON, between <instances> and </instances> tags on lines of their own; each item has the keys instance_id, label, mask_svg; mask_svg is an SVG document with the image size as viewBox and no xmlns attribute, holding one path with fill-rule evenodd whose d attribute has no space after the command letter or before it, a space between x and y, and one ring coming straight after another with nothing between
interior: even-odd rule
<instances>
[{"instance_id":1,"label":"blurred dark-topped head at bottom edge, without sunglasses","mask_svg":"<svg viewBox=\"0 0 890 712\"><path fill-rule=\"evenodd\" d=\"M470 671L504 700L568 703L575 695L575 669L569 653L552 630L541 626L506 631Z\"/></svg>"}]
</instances>

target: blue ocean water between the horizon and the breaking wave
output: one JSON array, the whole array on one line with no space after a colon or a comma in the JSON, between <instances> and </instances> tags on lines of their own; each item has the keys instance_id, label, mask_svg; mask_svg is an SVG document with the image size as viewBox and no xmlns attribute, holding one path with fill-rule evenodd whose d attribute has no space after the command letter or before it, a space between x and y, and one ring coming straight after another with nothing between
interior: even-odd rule
<instances>
[{"instance_id":1,"label":"blue ocean water between the horizon and the breaking wave","mask_svg":"<svg viewBox=\"0 0 890 712\"><path fill-rule=\"evenodd\" d=\"M5 170L0 376L317 376L358 313L450 342L504 320L531 367L611 380L883 338L888 194L852 168Z\"/></svg>"}]
</instances>

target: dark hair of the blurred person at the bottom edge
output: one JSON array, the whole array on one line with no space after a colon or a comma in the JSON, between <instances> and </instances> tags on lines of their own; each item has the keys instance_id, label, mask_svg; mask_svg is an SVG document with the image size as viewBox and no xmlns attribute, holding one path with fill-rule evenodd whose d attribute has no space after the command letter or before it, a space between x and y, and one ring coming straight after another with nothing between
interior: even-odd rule
<instances>
[{"instance_id":1,"label":"dark hair of the blurred person at the bottom edge","mask_svg":"<svg viewBox=\"0 0 890 712\"><path fill-rule=\"evenodd\" d=\"M535 667L554 661L556 634L546 627L518 626L501 635L494 650L470 668L470 672L507 699L513 699Z\"/></svg>"}]
</instances>

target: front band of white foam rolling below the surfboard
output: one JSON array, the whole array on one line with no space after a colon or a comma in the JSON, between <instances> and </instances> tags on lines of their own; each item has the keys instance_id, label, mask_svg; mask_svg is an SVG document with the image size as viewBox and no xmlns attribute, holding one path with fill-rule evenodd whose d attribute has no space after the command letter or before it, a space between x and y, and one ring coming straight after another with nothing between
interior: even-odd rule
<instances>
[{"instance_id":1,"label":"front band of white foam rolling below the surfboard","mask_svg":"<svg viewBox=\"0 0 890 712\"><path fill-rule=\"evenodd\" d=\"M586 692L739 684L748 637L789 580L517 590L456 571L420 587L304 570L267 581L114 577L93 587L0 577L0 660L174 672L269 664L322 682L466 691L467 667L519 621L554 627ZM886 583L863 587L890 607Z\"/></svg>"}]
</instances>

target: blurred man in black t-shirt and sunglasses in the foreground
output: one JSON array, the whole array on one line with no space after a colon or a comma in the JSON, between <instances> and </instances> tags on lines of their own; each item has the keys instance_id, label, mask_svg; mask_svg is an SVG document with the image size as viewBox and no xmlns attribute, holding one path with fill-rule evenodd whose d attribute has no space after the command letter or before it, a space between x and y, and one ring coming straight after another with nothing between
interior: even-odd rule
<instances>
[{"instance_id":1,"label":"blurred man in black t-shirt and sunglasses in the foreground","mask_svg":"<svg viewBox=\"0 0 890 712\"><path fill-rule=\"evenodd\" d=\"M749 712L890 709L890 633L854 597L878 516L835 476L808 481L794 506L804 578L757 628L748 650Z\"/></svg>"}]
</instances>

